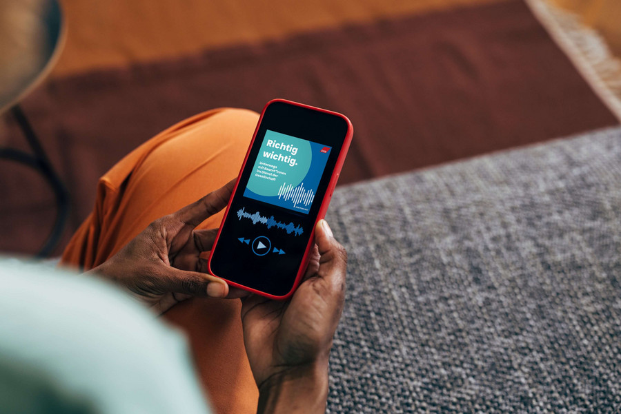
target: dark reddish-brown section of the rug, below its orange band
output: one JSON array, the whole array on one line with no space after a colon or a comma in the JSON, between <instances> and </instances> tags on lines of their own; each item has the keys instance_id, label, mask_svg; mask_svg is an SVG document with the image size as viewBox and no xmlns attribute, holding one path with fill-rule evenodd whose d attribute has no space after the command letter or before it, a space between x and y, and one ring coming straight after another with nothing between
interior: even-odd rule
<instances>
[{"instance_id":1,"label":"dark reddish-brown section of the rug, below its orange band","mask_svg":"<svg viewBox=\"0 0 621 414\"><path fill-rule=\"evenodd\" d=\"M63 243L95 183L168 125L283 97L347 114L340 183L618 123L522 0L393 14L151 63L55 76L23 103L70 189ZM21 145L4 118L0 136ZM0 250L34 252L54 215L41 180L0 163Z\"/></svg>"}]
</instances>

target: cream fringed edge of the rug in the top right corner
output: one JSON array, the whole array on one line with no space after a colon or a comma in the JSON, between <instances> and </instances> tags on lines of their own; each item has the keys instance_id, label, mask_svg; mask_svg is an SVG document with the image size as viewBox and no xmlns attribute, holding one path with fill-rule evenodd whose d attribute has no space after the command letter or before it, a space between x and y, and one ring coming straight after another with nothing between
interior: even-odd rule
<instances>
[{"instance_id":1,"label":"cream fringed edge of the rug in the top right corner","mask_svg":"<svg viewBox=\"0 0 621 414\"><path fill-rule=\"evenodd\" d=\"M621 122L621 60L592 28L549 0L525 0L575 68Z\"/></svg>"}]
</instances>

